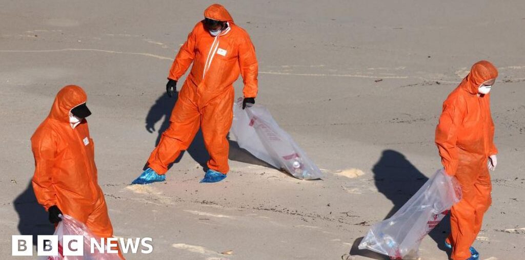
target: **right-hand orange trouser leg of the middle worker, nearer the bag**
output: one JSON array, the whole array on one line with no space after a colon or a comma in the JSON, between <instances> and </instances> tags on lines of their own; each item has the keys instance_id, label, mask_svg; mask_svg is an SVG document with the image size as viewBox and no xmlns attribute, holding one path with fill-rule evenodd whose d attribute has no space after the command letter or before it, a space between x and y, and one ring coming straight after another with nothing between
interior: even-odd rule
<instances>
[{"instance_id":1,"label":"right-hand orange trouser leg of the middle worker, nearer the bag","mask_svg":"<svg viewBox=\"0 0 525 260\"><path fill-rule=\"evenodd\" d=\"M234 90L229 88L224 94L217 96L203 109L202 134L204 145L209 153L208 167L227 174L229 171L228 132L233 120Z\"/></svg>"}]
</instances>

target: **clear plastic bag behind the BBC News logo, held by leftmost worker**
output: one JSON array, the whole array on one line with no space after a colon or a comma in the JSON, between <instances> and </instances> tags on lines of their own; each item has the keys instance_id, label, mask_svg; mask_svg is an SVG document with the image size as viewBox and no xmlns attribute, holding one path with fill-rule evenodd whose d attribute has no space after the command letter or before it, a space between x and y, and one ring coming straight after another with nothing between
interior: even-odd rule
<instances>
[{"instance_id":1,"label":"clear plastic bag behind the BBC News logo, held by leftmost worker","mask_svg":"<svg viewBox=\"0 0 525 260\"><path fill-rule=\"evenodd\" d=\"M100 238L91 233L88 227L69 215L61 215L62 221L57 225L55 230L58 236L58 256L43 256L39 260L120 260L118 254L100 253L97 248L91 253L91 238L94 238L100 243ZM84 237L84 255L83 256L63 256L62 242L64 235L81 235ZM105 251L106 247L104 247ZM112 248L116 250L116 248Z\"/></svg>"}]
</instances>

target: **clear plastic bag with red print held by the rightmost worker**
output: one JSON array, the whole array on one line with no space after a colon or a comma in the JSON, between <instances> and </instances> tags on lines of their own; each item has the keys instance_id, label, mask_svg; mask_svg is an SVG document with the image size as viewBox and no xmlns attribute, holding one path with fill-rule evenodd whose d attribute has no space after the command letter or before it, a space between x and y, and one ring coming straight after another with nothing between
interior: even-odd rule
<instances>
[{"instance_id":1,"label":"clear plastic bag with red print held by the rightmost worker","mask_svg":"<svg viewBox=\"0 0 525 260\"><path fill-rule=\"evenodd\" d=\"M359 245L391 259L417 259L419 244L461 199L454 177L438 170L391 218L372 226Z\"/></svg>"}]
</instances>

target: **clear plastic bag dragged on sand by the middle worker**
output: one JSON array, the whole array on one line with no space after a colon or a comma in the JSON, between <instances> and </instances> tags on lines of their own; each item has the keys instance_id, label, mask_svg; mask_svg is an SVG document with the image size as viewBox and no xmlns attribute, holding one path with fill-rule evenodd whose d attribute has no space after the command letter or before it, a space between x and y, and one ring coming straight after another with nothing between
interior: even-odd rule
<instances>
[{"instance_id":1,"label":"clear plastic bag dragged on sand by the middle worker","mask_svg":"<svg viewBox=\"0 0 525 260\"><path fill-rule=\"evenodd\" d=\"M322 172L306 153L283 131L264 106L242 109L243 99L234 104L232 133L239 147L266 163L304 180L320 179Z\"/></svg>"}]
</instances>

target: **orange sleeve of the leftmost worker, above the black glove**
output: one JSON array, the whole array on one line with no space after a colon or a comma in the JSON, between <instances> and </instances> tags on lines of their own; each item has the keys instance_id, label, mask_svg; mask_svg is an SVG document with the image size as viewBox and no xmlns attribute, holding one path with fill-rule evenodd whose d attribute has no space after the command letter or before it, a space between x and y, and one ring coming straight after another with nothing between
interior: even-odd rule
<instances>
[{"instance_id":1,"label":"orange sleeve of the leftmost worker, above the black glove","mask_svg":"<svg viewBox=\"0 0 525 260\"><path fill-rule=\"evenodd\" d=\"M33 190L39 204L44 208L56 205L56 191L53 187L53 168L57 158L56 138L53 134L43 134L31 142L35 157L35 175L33 176Z\"/></svg>"}]
</instances>

